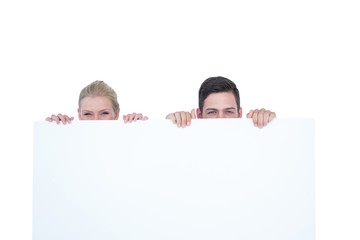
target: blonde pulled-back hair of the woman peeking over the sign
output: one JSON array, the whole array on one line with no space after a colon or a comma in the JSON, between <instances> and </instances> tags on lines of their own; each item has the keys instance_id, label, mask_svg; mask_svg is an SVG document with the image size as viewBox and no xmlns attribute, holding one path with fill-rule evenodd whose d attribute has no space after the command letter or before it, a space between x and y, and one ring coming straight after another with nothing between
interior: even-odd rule
<instances>
[{"instance_id":1,"label":"blonde pulled-back hair of the woman peeking over the sign","mask_svg":"<svg viewBox=\"0 0 360 240\"><path fill-rule=\"evenodd\" d=\"M104 81L96 80L86 87L84 87L79 96L79 108L81 100L85 97L96 97L96 96L102 96L102 97L108 97L112 108L115 113L120 112L120 106L117 101L117 94L109 85L107 85Z\"/></svg>"}]
</instances>

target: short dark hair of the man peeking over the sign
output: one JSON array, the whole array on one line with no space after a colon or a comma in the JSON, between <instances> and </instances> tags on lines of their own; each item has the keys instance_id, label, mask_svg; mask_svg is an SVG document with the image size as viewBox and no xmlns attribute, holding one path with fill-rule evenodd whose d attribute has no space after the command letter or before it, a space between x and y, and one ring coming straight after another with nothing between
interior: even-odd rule
<instances>
[{"instance_id":1,"label":"short dark hair of the man peeking over the sign","mask_svg":"<svg viewBox=\"0 0 360 240\"><path fill-rule=\"evenodd\" d=\"M206 79L200 86L199 89L199 109L202 112L204 107L205 99L211 93L219 92L232 92L235 97L237 110L240 109L240 94L239 90L236 87L236 84L230 79L224 77L210 77Z\"/></svg>"}]
</instances>

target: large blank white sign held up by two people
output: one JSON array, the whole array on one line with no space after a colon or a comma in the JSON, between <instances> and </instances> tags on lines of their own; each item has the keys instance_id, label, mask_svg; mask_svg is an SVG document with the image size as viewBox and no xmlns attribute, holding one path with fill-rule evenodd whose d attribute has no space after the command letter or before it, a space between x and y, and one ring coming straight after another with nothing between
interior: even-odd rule
<instances>
[{"instance_id":1,"label":"large blank white sign held up by two people","mask_svg":"<svg viewBox=\"0 0 360 240\"><path fill-rule=\"evenodd\" d=\"M34 240L315 239L313 119L34 127Z\"/></svg>"}]
</instances>

